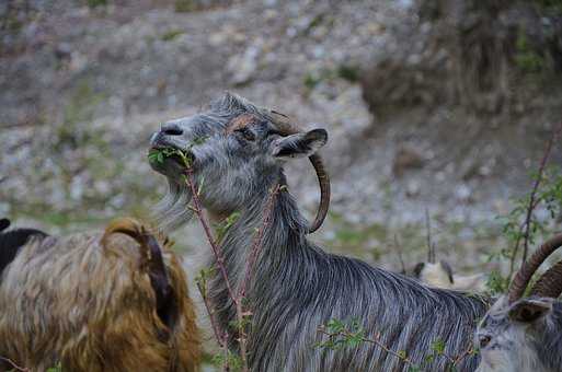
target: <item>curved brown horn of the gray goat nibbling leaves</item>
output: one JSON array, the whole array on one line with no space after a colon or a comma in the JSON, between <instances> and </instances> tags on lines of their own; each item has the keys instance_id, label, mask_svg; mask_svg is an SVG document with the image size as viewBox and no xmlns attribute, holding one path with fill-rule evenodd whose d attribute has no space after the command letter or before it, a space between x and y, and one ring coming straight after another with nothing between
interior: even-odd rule
<instances>
[{"instance_id":1,"label":"curved brown horn of the gray goat nibbling leaves","mask_svg":"<svg viewBox=\"0 0 562 372\"><path fill-rule=\"evenodd\" d=\"M288 116L269 111L273 121L280 132L284 135L296 135L299 130L289 121ZM314 167L318 177L318 185L320 186L320 204L318 206L317 217L314 221L308 226L307 234L313 233L322 225L330 208L330 177L325 171L322 158L318 154L312 154L308 158Z\"/></svg>"}]
</instances>

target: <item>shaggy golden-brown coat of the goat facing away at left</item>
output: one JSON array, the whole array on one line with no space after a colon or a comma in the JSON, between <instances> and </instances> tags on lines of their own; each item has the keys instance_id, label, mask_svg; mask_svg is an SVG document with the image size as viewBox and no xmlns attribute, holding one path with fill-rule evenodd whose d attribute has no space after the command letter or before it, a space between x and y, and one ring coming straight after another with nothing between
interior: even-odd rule
<instances>
[{"instance_id":1,"label":"shaggy golden-brown coat of the goat facing away at left","mask_svg":"<svg viewBox=\"0 0 562 372\"><path fill-rule=\"evenodd\" d=\"M122 219L104 233L24 245L0 282L0 356L32 371L58 362L64 371L198 371L184 270L157 236L175 310L170 329L157 313L147 231Z\"/></svg>"}]
</instances>

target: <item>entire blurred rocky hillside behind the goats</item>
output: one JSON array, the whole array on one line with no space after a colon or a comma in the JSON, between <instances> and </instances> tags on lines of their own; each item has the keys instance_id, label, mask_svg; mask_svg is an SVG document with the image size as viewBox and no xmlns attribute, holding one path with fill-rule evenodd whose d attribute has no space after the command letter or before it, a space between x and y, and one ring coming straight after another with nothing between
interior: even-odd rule
<instances>
[{"instance_id":1,"label":"entire blurred rocky hillside behind the goats","mask_svg":"<svg viewBox=\"0 0 562 372\"><path fill-rule=\"evenodd\" d=\"M328 251L401 270L429 224L456 271L502 271L562 120L562 1L0 1L0 216L49 232L149 216L150 133L227 90L328 129ZM312 170L288 175L310 216ZM202 236L175 233L187 263Z\"/></svg>"}]
</instances>

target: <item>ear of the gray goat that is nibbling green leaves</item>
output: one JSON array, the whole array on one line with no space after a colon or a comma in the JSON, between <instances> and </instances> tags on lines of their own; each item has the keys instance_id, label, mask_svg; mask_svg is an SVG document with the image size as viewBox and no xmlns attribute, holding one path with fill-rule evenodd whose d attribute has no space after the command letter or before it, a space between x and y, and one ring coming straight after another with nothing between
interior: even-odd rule
<instances>
[{"instance_id":1,"label":"ear of the gray goat that is nibbling green leaves","mask_svg":"<svg viewBox=\"0 0 562 372\"><path fill-rule=\"evenodd\" d=\"M306 158L312 155L328 142L324 129L312 129L305 133L296 133L279 138L273 142L272 155L275 158Z\"/></svg>"}]
</instances>

